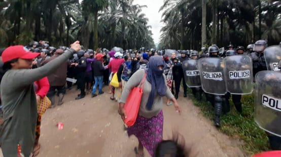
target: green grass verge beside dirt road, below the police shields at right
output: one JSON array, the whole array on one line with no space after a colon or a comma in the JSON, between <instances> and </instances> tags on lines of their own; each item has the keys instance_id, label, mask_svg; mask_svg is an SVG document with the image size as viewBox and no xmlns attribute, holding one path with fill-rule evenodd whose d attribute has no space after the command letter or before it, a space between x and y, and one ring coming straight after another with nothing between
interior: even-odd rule
<instances>
[{"instance_id":1,"label":"green grass verge beside dirt road, below the police shields at right","mask_svg":"<svg viewBox=\"0 0 281 157\"><path fill-rule=\"evenodd\" d=\"M192 93L191 90L189 93ZM190 94L192 95L192 94ZM195 106L200 107L204 116L208 119L214 119L214 108L205 99L202 101L192 97ZM219 131L235 139L243 141L242 148L248 154L255 154L269 149L268 138L254 122L254 95L242 96L243 113L236 111L231 98L231 111L221 116L221 128Z\"/></svg>"}]
</instances>

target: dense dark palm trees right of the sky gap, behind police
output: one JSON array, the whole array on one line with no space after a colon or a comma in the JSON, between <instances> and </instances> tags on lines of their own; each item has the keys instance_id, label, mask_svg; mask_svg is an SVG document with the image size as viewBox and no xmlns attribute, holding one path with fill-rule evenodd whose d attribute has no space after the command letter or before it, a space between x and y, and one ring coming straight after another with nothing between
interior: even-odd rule
<instances>
[{"instance_id":1,"label":"dense dark palm trees right of the sky gap, behind police","mask_svg":"<svg viewBox=\"0 0 281 157\"><path fill-rule=\"evenodd\" d=\"M160 11L165 23L160 49L281 41L280 1L164 0Z\"/></svg>"}]
</instances>

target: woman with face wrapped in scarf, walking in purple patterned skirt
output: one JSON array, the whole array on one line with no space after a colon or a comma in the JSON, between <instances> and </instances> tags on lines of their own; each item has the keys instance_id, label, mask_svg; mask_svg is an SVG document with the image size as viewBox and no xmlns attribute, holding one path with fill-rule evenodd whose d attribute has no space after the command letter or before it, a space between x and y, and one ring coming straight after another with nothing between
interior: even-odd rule
<instances>
[{"instance_id":1,"label":"woman with face wrapped in scarf, walking in purple patterned skirt","mask_svg":"<svg viewBox=\"0 0 281 157\"><path fill-rule=\"evenodd\" d=\"M124 103L130 93L130 90L141 83L145 73L147 73L141 106L139 107L138 116L133 126L128 127L128 136L135 135L138 139L138 148L135 147L136 156L144 155L144 147L151 156L154 156L156 145L161 142L163 137L163 101L162 97L166 96L174 102L177 112L181 108L166 85L166 77L163 74L166 63L160 56L152 56L147 65L147 69L136 71L128 80L123 89L119 101L119 114L124 120L126 113Z\"/></svg>"}]
</instances>

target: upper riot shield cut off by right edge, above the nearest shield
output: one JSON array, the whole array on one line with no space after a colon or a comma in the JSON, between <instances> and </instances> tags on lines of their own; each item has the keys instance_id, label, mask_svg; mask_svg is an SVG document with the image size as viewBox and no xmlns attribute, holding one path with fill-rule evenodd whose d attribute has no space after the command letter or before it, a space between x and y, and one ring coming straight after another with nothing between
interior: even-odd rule
<instances>
[{"instance_id":1,"label":"upper riot shield cut off by right edge, above the nearest shield","mask_svg":"<svg viewBox=\"0 0 281 157\"><path fill-rule=\"evenodd\" d=\"M279 45L270 46L264 50L264 57L267 70L280 71L277 65L281 59L281 47Z\"/></svg>"}]
</instances>

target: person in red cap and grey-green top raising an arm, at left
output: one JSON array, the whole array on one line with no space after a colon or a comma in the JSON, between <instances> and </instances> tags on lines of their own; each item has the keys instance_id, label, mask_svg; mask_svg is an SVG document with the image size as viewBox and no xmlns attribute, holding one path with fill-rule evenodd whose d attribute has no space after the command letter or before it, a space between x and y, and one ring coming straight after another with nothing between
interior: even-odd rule
<instances>
[{"instance_id":1,"label":"person in red cap and grey-green top raising an arm, at left","mask_svg":"<svg viewBox=\"0 0 281 157\"><path fill-rule=\"evenodd\" d=\"M4 156L30 156L34 146L37 101L33 82L54 72L60 64L81 49L78 41L71 49L44 66L30 69L39 53L23 46L10 46L2 54L7 72L0 87L3 103L1 147Z\"/></svg>"}]
</instances>

